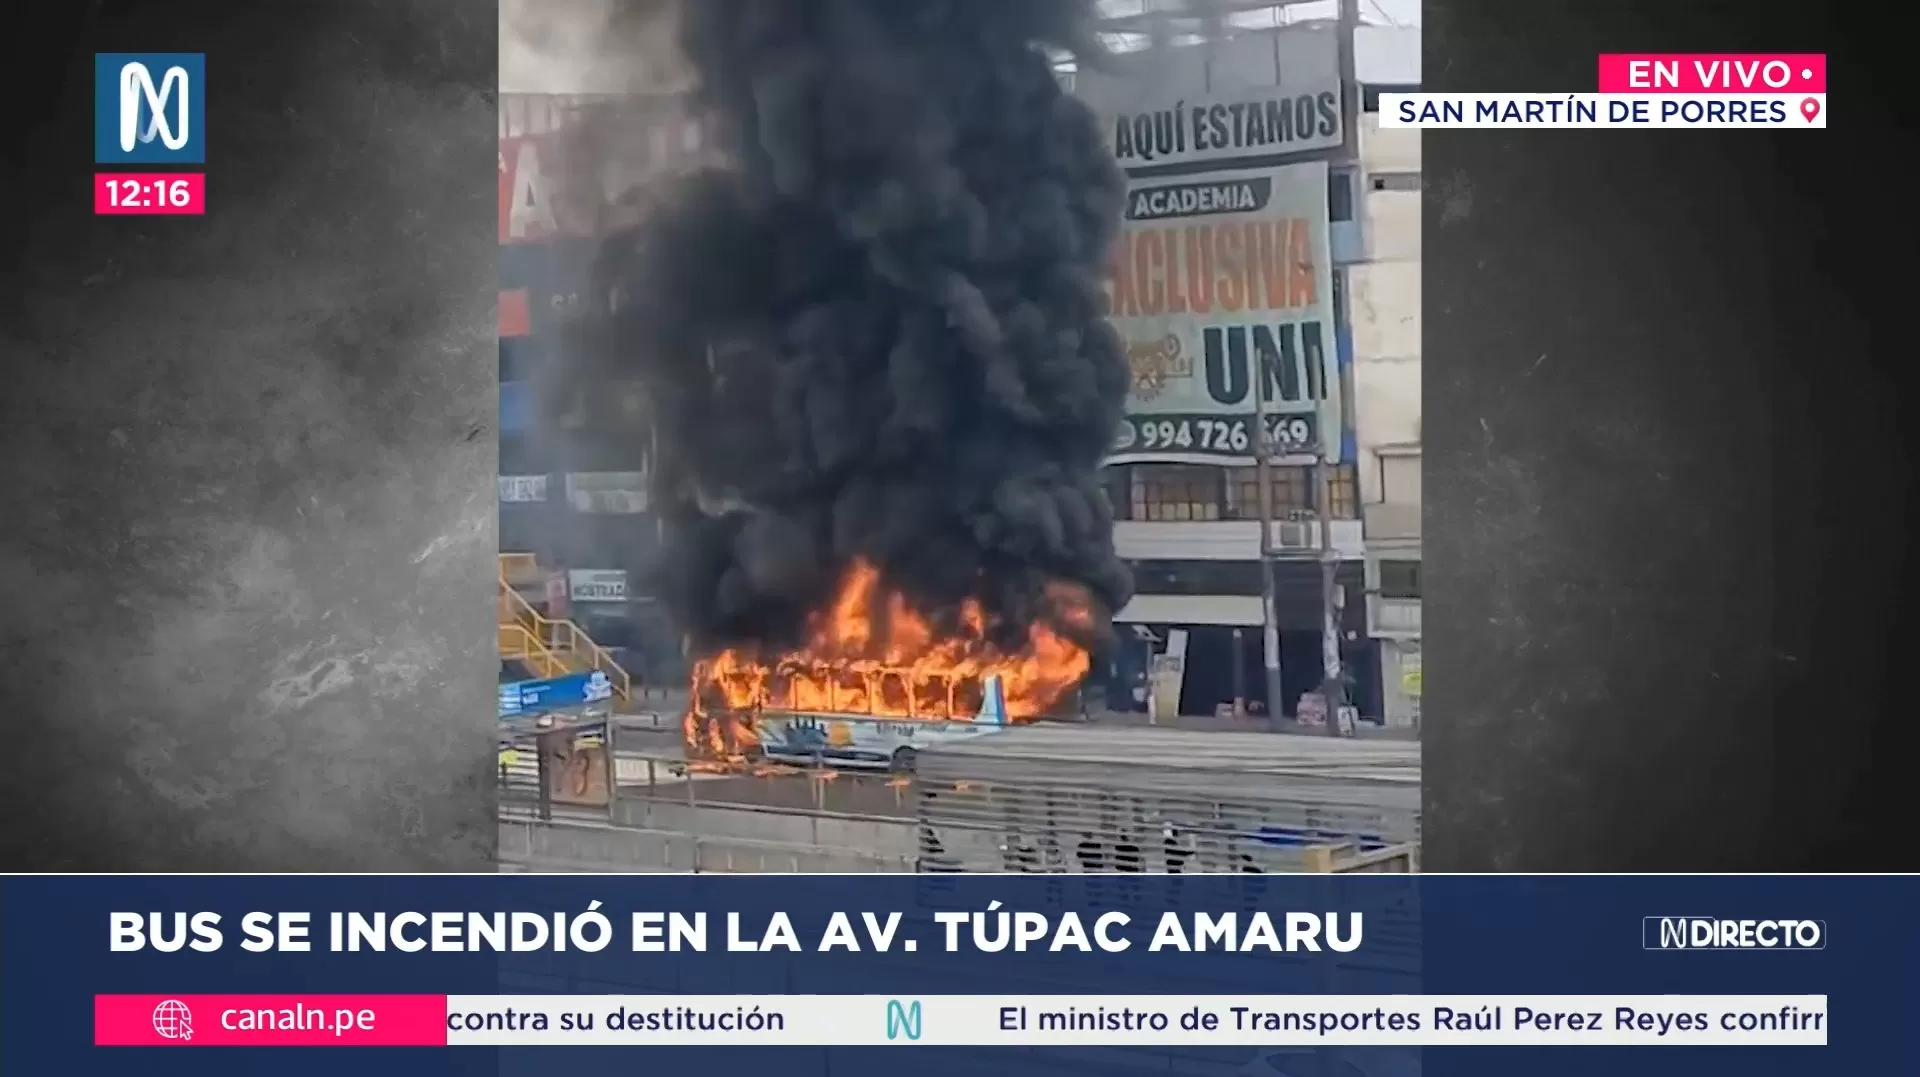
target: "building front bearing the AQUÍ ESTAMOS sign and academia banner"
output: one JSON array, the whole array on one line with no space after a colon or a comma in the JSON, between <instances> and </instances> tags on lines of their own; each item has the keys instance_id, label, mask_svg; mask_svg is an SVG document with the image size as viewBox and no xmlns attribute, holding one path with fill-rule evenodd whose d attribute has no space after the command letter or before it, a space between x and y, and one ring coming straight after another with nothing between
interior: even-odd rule
<instances>
[{"instance_id":1,"label":"building front bearing the AQU\u00cd ESTAMOS sign and academia banner","mask_svg":"<svg viewBox=\"0 0 1920 1077\"><path fill-rule=\"evenodd\" d=\"M1346 294L1348 267L1367 253L1363 169L1346 159L1336 35L1332 23L1294 23L1188 44L1169 38L1098 73L1069 75L1110 127L1131 180L1110 290L1135 380L1129 426L1106 468L1116 547L1137 591L1116 616L1119 647L1106 685L1116 708L1144 708L1152 695L1156 708L1181 714L1236 701L1296 714L1300 695L1317 691L1323 676L1323 528L1338 559L1332 620L1348 695L1365 718L1384 706L1363 601ZM1181 205L1196 211L1179 213ZM1279 246L1286 265L1269 267L1267 251ZM1311 284L1302 278L1308 265ZM1260 301L1256 269L1267 282ZM1229 280L1240 271L1246 296ZM1281 273L1292 288L1275 301ZM1202 436L1219 420L1252 426L1254 401L1235 392L1236 376L1267 394L1269 430L1279 434L1267 505L1277 701L1265 685L1263 509L1252 438L1233 426L1236 442L1221 451L1217 436ZM1183 380L1192 388L1183 392ZM1331 461L1325 497L1315 480L1321 451Z\"/></svg>"}]
</instances>

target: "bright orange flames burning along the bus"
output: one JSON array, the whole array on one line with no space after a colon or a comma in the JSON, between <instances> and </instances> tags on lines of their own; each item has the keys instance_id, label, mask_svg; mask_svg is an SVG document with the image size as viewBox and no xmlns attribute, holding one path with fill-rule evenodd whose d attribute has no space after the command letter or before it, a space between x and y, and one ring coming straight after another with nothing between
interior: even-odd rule
<instances>
[{"instance_id":1,"label":"bright orange flames burning along the bus","mask_svg":"<svg viewBox=\"0 0 1920 1077\"><path fill-rule=\"evenodd\" d=\"M1056 584L1048 597L1069 628L1091 628L1079 587ZM985 703L991 676L1000 678L1008 722L1025 722L1046 714L1089 666L1085 647L1041 622L1021 651L1000 651L987 641L987 618L972 599L960 609L960 632L943 637L904 595L881 593L874 564L856 561L814 616L804 647L772 660L722 651L693 666L687 758L745 758L758 743L753 718L762 710L968 720Z\"/></svg>"}]
</instances>

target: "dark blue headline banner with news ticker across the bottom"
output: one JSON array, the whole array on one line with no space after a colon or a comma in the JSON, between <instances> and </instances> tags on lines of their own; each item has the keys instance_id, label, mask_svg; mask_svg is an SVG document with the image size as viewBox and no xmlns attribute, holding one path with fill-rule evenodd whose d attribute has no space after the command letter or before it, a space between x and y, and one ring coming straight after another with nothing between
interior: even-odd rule
<instances>
[{"instance_id":1,"label":"dark blue headline banner with news ticker across the bottom","mask_svg":"<svg viewBox=\"0 0 1920 1077\"><path fill-rule=\"evenodd\" d=\"M4 877L0 1071L1907 1073L1916 898L1761 875Z\"/></svg>"}]
</instances>

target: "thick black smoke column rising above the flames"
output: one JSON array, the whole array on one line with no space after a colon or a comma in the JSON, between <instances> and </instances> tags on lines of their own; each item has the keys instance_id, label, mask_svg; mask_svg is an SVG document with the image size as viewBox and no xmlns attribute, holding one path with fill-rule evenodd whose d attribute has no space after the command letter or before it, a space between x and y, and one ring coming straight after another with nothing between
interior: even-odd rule
<instances>
[{"instance_id":1,"label":"thick black smoke column rising above the flames","mask_svg":"<svg viewBox=\"0 0 1920 1077\"><path fill-rule=\"evenodd\" d=\"M1087 0L699 0L733 165L609 244L607 359L651 386L662 597L701 649L801 639L854 561L1014 645L1131 582L1098 463L1127 390L1102 276L1125 198L1046 48ZM1058 622L1056 622L1058 624ZM1085 630L1079 632L1085 637Z\"/></svg>"}]
</instances>

